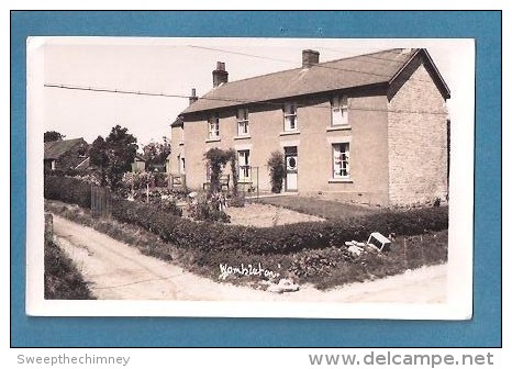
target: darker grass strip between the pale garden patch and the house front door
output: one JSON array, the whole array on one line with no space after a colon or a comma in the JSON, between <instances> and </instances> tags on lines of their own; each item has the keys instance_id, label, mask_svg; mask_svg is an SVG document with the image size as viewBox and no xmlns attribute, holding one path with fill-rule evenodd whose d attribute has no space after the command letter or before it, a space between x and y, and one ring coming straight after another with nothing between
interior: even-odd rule
<instances>
[{"instance_id":1,"label":"darker grass strip between the pale garden patch and the house front door","mask_svg":"<svg viewBox=\"0 0 512 369\"><path fill-rule=\"evenodd\" d=\"M255 200L256 201L256 200ZM298 195L280 195L259 199L259 202L291 209L304 214L311 214L327 220L340 220L374 214L382 211L378 208L348 204L338 201L321 200Z\"/></svg>"}]
</instances>

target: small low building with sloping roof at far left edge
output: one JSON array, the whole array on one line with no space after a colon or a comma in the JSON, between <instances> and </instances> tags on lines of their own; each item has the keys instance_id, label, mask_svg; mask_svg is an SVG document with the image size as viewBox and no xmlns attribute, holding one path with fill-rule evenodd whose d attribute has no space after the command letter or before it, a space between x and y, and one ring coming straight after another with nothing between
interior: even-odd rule
<instances>
[{"instance_id":1,"label":"small low building with sloping roof at far left edge","mask_svg":"<svg viewBox=\"0 0 512 369\"><path fill-rule=\"evenodd\" d=\"M84 138L52 141L44 143L44 169L75 170L84 167L89 145Z\"/></svg>"}]
</instances>

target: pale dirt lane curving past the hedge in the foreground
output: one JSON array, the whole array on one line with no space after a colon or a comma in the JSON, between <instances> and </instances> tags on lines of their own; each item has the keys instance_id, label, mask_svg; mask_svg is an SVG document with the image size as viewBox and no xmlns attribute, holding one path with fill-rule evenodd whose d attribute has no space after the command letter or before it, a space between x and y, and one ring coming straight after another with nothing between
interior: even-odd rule
<instances>
[{"instance_id":1,"label":"pale dirt lane curving past the hedge in the foreground","mask_svg":"<svg viewBox=\"0 0 512 369\"><path fill-rule=\"evenodd\" d=\"M302 286L278 294L220 283L141 254L92 228L54 215L56 241L102 300L443 302L446 266L434 266L330 291Z\"/></svg>"}]
</instances>

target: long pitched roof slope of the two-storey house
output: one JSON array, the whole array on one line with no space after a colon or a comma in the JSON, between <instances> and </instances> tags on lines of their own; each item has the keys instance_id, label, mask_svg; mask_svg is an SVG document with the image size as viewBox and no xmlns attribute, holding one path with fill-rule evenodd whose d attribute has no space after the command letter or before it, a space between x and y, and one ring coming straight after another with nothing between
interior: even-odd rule
<instances>
[{"instance_id":1,"label":"long pitched roof slope of the two-storey house","mask_svg":"<svg viewBox=\"0 0 512 369\"><path fill-rule=\"evenodd\" d=\"M294 68L223 83L199 98L181 114L368 85L389 83L420 52L425 53L426 59L432 63L425 49L393 48L321 63L310 68ZM435 66L434 69L438 74ZM441 76L438 77L441 78ZM441 80L442 86L446 87L442 78ZM449 91L447 94L449 96Z\"/></svg>"}]
</instances>

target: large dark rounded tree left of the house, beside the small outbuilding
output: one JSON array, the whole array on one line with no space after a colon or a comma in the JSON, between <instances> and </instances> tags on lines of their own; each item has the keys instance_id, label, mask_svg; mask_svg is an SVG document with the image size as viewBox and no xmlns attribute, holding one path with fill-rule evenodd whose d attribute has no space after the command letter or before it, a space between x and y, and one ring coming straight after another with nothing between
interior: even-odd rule
<instances>
[{"instance_id":1,"label":"large dark rounded tree left of the house, beside the small outbuilding","mask_svg":"<svg viewBox=\"0 0 512 369\"><path fill-rule=\"evenodd\" d=\"M90 149L91 164L100 169L102 185L108 185L112 190L121 186L125 171L131 170L137 152L137 139L127 128L120 125L112 127L107 138L98 136Z\"/></svg>"}]
</instances>

